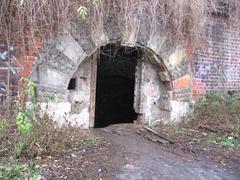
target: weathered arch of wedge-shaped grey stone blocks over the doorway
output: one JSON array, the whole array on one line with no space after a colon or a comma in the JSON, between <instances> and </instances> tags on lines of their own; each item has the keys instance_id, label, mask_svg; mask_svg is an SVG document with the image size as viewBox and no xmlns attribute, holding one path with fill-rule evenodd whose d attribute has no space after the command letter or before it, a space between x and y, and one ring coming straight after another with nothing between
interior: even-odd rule
<instances>
[{"instance_id":1,"label":"weathered arch of wedge-shaped grey stone blocks over the doorway","mask_svg":"<svg viewBox=\"0 0 240 180\"><path fill-rule=\"evenodd\" d=\"M119 28L118 24L109 22L113 23L112 26L108 25L108 28L104 29L102 25L90 35L87 35L87 29L81 29L77 33L78 29L71 27L68 32L49 40L40 52L31 75L31 79L37 83L38 95L55 93L59 99L66 100L68 83L78 67L91 58L101 46L120 43L122 46L144 49L149 61L156 67L169 94L158 107L167 114L163 121L172 122L184 115L189 109L189 102L186 102L186 99L174 100L172 84L174 80L191 74L184 49L160 33L157 26L150 32L147 21L132 19L131 22L135 24L135 28ZM173 107L173 104L176 107ZM53 105L53 108L59 109L64 105L60 103L57 106ZM68 110L71 111L71 106ZM84 127L89 126L91 127L87 124Z\"/></svg>"}]
</instances>

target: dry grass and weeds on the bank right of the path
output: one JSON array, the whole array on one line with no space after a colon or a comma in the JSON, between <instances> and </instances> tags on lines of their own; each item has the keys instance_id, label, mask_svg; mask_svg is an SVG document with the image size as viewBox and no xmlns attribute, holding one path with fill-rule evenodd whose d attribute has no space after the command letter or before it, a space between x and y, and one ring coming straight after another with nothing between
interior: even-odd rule
<instances>
[{"instance_id":1,"label":"dry grass and weeds on the bank right of the path","mask_svg":"<svg viewBox=\"0 0 240 180\"><path fill-rule=\"evenodd\" d=\"M158 126L156 131L176 142L166 145L175 153L209 158L234 169L240 162L239 95L237 92L208 93L196 102L194 113L187 121L177 126Z\"/></svg>"}]
</instances>

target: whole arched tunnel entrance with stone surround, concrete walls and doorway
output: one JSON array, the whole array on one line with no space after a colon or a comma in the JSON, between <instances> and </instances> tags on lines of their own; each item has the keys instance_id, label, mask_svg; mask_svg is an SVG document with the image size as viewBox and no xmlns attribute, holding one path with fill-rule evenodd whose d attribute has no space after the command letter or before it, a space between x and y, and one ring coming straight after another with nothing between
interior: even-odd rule
<instances>
[{"instance_id":1,"label":"whole arched tunnel entrance with stone surround, concrete walls and doorway","mask_svg":"<svg viewBox=\"0 0 240 180\"><path fill-rule=\"evenodd\" d=\"M181 47L157 50L158 39L146 46L137 39L109 44L107 38L96 37L95 44L75 38L60 34L49 41L30 77L37 84L38 97L57 96L58 102L41 103L41 110L59 125L67 120L97 128L138 119L154 126L176 122L189 112L190 65ZM180 82L187 89L177 86Z\"/></svg>"}]
</instances>

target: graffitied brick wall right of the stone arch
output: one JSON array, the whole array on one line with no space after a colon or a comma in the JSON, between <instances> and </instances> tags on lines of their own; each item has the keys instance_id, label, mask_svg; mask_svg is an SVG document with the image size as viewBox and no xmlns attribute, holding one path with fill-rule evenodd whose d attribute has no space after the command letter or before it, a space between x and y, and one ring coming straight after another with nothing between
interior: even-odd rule
<instances>
[{"instance_id":1,"label":"graffitied brick wall right of the stone arch","mask_svg":"<svg viewBox=\"0 0 240 180\"><path fill-rule=\"evenodd\" d=\"M193 96L240 90L240 23L209 19L192 54Z\"/></svg>"}]
</instances>

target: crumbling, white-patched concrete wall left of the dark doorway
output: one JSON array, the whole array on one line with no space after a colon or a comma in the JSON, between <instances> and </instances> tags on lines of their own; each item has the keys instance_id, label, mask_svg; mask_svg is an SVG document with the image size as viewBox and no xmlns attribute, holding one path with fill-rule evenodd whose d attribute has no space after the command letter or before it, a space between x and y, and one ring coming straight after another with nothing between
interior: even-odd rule
<instances>
[{"instance_id":1,"label":"crumbling, white-patched concrete wall left of the dark doorway","mask_svg":"<svg viewBox=\"0 0 240 180\"><path fill-rule=\"evenodd\" d=\"M92 61L93 59L87 58L73 74L72 78L76 80L74 89L66 90L56 102L41 103L41 111L47 112L59 125L70 123L89 128Z\"/></svg>"}]
</instances>

